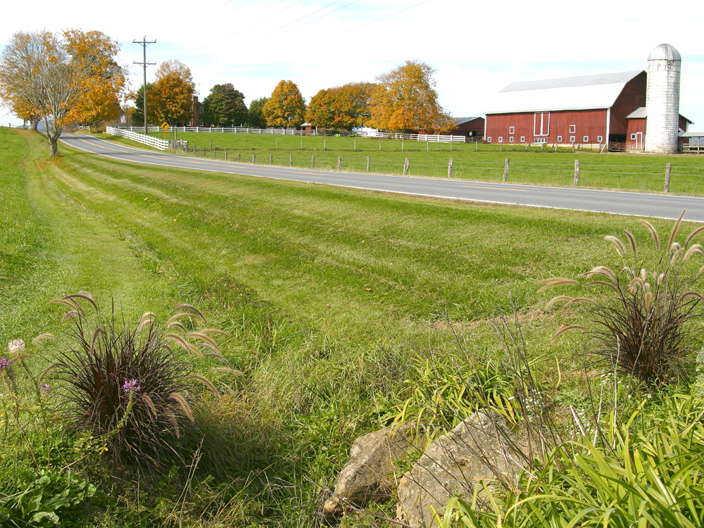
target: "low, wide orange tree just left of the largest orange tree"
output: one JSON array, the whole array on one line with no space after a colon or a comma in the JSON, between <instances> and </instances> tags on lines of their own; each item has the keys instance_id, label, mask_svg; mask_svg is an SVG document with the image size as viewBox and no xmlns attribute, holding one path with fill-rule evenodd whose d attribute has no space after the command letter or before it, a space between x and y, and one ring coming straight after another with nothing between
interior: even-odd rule
<instances>
[{"instance_id":1,"label":"low, wide orange tree just left of the largest orange tree","mask_svg":"<svg viewBox=\"0 0 704 528\"><path fill-rule=\"evenodd\" d=\"M370 118L369 103L375 84L351 82L322 89L310 99L306 121L311 125L352 130Z\"/></svg>"}]
</instances>

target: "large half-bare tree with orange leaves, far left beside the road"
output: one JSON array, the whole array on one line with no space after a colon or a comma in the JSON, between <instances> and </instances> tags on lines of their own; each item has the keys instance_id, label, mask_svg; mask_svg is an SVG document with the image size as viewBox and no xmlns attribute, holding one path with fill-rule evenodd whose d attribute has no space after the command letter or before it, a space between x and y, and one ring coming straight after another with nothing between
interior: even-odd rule
<instances>
[{"instance_id":1,"label":"large half-bare tree with orange leaves, far left beside the road","mask_svg":"<svg viewBox=\"0 0 704 528\"><path fill-rule=\"evenodd\" d=\"M41 116L51 156L65 125L99 115L118 101L125 77L115 55L118 42L99 31L17 32L0 56L0 96Z\"/></svg>"}]
</instances>

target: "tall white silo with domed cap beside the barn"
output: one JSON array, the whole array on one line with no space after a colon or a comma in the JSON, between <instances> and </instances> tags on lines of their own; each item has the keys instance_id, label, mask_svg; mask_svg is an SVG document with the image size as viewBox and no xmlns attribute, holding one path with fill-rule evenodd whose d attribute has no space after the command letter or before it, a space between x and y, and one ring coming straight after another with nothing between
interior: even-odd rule
<instances>
[{"instance_id":1,"label":"tall white silo with domed cap beside the barn","mask_svg":"<svg viewBox=\"0 0 704 528\"><path fill-rule=\"evenodd\" d=\"M648 56L646 152L677 153L681 63L679 51L670 44L660 44Z\"/></svg>"}]
</instances>

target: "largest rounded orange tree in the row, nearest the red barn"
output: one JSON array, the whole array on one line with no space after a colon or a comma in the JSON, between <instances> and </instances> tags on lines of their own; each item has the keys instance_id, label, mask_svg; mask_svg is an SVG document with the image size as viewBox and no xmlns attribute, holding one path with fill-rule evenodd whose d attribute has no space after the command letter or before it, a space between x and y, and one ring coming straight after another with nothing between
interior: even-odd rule
<instances>
[{"instance_id":1,"label":"largest rounded orange tree in the row, nearest the red barn","mask_svg":"<svg viewBox=\"0 0 704 528\"><path fill-rule=\"evenodd\" d=\"M367 125L402 132L425 130L429 134L452 130L453 120L438 102L434 73L426 63L406 61L379 75Z\"/></svg>"}]
</instances>

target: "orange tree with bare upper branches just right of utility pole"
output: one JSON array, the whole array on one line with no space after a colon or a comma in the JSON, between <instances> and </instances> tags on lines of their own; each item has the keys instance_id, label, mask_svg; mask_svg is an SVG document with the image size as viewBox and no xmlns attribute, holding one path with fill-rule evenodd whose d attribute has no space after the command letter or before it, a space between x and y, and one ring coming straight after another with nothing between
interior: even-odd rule
<instances>
[{"instance_id":1,"label":"orange tree with bare upper branches just right of utility pole","mask_svg":"<svg viewBox=\"0 0 704 528\"><path fill-rule=\"evenodd\" d=\"M191 116L195 84L191 70L181 61L164 61L156 70L156 81L147 89L148 120L176 125ZM135 101L136 104L136 101Z\"/></svg>"}]
</instances>

